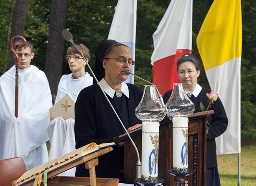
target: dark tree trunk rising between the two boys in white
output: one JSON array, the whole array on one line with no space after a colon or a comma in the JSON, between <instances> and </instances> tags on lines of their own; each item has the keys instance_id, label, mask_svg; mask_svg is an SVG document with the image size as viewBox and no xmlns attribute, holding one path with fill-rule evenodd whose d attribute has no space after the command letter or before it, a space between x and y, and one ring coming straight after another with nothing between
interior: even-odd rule
<instances>
[{"instance_id":1,"label":"dark tree trunk rising between the two boys in white","mask_svg":"<svg viewBox=\"0 0 256 186\"><path fill-rule=\"evenodd\" d=\"M56 95L61 78L64 38L62 31L67 22L68 0L52 0L49 36L45 59L45 73L48 78L52 95Z\"/></svg>"}]
</instances>

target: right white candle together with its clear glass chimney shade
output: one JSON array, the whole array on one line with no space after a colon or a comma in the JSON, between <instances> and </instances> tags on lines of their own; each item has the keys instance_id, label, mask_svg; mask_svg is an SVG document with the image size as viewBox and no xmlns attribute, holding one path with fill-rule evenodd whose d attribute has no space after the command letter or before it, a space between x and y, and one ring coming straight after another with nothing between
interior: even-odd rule
<instances>
[{"instance_id":1,"label":"right white candle together with its clear glass chimney shade","mask_svg":"<svg viewBox=\"0 0 256 186\"><path fill-rule=\"evenodd\" d=\"M173 169L188 172L188 116L195 104L187 96L182 83L173 84L173 92L166 103L167 115L173 120Z\"/></svg>"}]
</instances>

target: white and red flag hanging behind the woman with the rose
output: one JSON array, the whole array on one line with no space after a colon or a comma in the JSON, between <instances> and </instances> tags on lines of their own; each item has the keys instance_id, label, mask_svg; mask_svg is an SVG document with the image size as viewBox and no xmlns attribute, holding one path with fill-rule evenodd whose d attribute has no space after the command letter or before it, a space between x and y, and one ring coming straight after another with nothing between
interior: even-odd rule
<instances>
[{"instance_id":1,"label":"white and red flag hanging behind the woman with the rose","mask_svg":"<svg viewBox=\"0 0 256 186\"><path fill-rule=\"evenodd\" d=\"M192 51L193 0L171 0L153 34L153 83L161 95L180 83L176 61Z\"/></svg>"}]
</instances>

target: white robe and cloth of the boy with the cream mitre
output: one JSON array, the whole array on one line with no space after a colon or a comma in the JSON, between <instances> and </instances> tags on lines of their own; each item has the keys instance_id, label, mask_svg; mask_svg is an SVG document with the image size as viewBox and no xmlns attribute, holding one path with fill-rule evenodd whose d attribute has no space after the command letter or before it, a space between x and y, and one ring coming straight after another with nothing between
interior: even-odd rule
<instances>
[{"instance_id":1,"label":"white robe and cloth of the boy with the cream mitre","mask_svg":"<svg viewBox=\"0 0 256 186\"><path fill-rule=\"evenodd\" d=\"M85 72L85 75L78 79L72 78L72 73L63 75L59 81L58 91L55 99L55 104L63 98L67 93L76 101L80 91L93 84L93 77ZM64 120L61 116L55 118L50 122L47 131L50 139L50 154L49 160L75 150L75 134L74 134L74 120ZM72 168L59 175L74 176L76 168Z\"/></svg>"}]
</instances>

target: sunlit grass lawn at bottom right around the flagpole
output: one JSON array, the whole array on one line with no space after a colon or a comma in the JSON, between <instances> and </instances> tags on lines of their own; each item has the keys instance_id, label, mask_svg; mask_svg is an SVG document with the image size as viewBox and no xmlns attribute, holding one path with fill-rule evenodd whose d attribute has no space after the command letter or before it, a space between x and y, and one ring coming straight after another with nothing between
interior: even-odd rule
<instances>
[{"instance_id":1,"label":"sunlit grass lawn at bottom right around the flagpole","mask_svg":"<svg viewBox=\"0 0 256 186\"><path fill-rule=\"evenodd\" d=\"M238 185L238 154L217 155L222 186ZM256 186L256 140L241 141L241 186Z\"/></svg>"}]
</instances>

